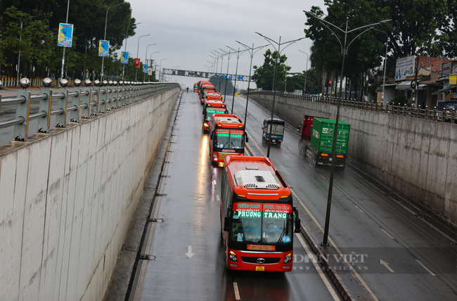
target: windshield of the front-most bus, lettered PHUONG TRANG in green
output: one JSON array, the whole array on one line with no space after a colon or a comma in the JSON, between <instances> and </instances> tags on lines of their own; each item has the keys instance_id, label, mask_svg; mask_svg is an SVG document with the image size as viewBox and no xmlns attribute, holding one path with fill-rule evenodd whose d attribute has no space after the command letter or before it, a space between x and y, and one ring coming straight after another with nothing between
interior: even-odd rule
<instances>
[{"instance_id":1,"label":"windshield of the front-most bus, lettered PHUONG TRANG in green","mask_svg":"<svg viewBox=\"0 0 457 301\"><path fill-rule=\"evenodd\" d=\"M263 209L263 210L262 210ZM292 207L288 204L234 204L230 240L234 243L291 243Z\"/></svg>"}]
</instances>

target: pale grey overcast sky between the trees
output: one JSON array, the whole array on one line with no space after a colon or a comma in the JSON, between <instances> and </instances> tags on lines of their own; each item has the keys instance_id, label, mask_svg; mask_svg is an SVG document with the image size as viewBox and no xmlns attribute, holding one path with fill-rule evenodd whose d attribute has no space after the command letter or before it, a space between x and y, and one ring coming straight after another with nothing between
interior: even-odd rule
<instances>
[{"instance_id":1,"label":"pale grey overcast sky between the trees","mask_svg":"<svg viewBox=\"0 0 457 301\"><path fill-rule=\"evenodd\" d=\"M129 0L133 17L137 23L136 35L127 39L127 51L136 56L138 41L139 57L144 61L146 46L148 59L160 63L162 68L180 70L208 71L205 65L212 62L211 51L219 48L228 51L227 46L238 49L236 41L256 46L268 44L255 32L278 41L290 41L304 37L304 23L307 18L303 11L311 6L320 6L326 11L323 0L167 0L144 1ZM139 37L150 34L148 37ZM292 67L290 72L305 70L306 55L298 49L309 53L310 39L303 39L289 46L282 53L288 57L287 64ZM269 46L273 51L273 48ZM122 51L124 46L122 46ZM252 65L263 64L265 49L258 51ZM221 52L221 51L219 51ZM243 53L238 63L238 74L249 75L250 56ZM221 60L219 60L219 71ZM308 68L310 67L308 63ZM223 71L227 70L227 58L224 57ZM234 74L236 56L231 56L228 72ZM196 77L176 77L176 81L188 87L198 82ZM238 88L243 88L240 83ZM247 84L245 84L247 88Z\"/></svg>"}]
</instances>

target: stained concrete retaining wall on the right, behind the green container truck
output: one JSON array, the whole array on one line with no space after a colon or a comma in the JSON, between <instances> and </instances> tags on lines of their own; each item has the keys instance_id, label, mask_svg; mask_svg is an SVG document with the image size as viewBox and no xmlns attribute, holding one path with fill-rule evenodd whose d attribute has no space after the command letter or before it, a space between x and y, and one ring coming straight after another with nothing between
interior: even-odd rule
<instances>
[{"instance_id":1,"label":"stained concrete retaining wall on the right, behind the green container truck","mask_svg":"<svg viewBox=\"0 0 457 301\"><path fill-rule=\"evenodd\" d=\"M271 110L272 95L251 98ZM293 125L303 116L335 118L336 105L276 97L275 114ZM457 125L340 108L351 124L349 159L375 178L457 225Z\"/></svg>"}]
</instances>

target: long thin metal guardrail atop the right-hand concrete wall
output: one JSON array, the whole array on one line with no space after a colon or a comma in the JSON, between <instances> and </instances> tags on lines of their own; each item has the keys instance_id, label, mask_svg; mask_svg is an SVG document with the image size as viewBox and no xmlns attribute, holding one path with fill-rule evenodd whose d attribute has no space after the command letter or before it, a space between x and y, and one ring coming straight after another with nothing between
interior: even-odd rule
<instances>
[{"instance_id":1,"label":"long thin metal guardrail atop the right-hand concrete wall","mask_svg":"<svg viewBox=\"0 0 457 301\"><path fill-rule=\"evenodd\" d=\"M273 91L250 91L250 95L273 95ZM334 96L313 96L309 94L295 94L285 93L276 91L276 96L299 99L302 101L310 101L316 103L329 103L331 105L337 105L339 97ZM432 120L437 122L451 122L457 123L456 109L439 111L437 108L429 110L427 106L425 108L418 108L413 106L401 106L401 105L382 105L379 103L368 103L366 101L356 101L353 98L341 98L341 106L348 108L356 108L359 110L371 110L380 113L403 115L406 117L420 118L425 120Z\"/></svg>"}]
</instances>

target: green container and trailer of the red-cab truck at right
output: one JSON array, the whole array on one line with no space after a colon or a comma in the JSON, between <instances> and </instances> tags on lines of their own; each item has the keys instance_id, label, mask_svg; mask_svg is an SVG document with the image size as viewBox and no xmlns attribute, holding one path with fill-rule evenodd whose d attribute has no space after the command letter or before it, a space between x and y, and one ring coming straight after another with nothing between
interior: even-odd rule
<instances>
[{"instance_id":1,"label":"green container and trailer of the red-cab truck at right","mask_svg":"<svg viewBox=\"0 0 457 301\"><path fill-rule=\"evenodd\" d=\"M311 132L311 141L300 141L300 152L304 157L311 159L311 166L332 165L333 137L335 136L336 120L314 117ZM351 126L341 120L338 121L338 135L336 141L335 166L344 168L347 158L347 146Z\"/></svg>"}]
</instances>

